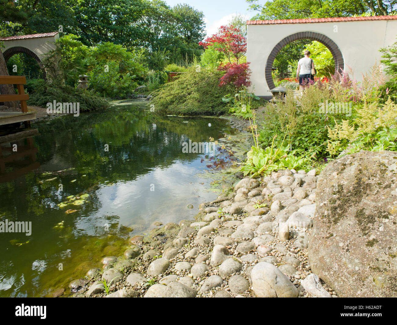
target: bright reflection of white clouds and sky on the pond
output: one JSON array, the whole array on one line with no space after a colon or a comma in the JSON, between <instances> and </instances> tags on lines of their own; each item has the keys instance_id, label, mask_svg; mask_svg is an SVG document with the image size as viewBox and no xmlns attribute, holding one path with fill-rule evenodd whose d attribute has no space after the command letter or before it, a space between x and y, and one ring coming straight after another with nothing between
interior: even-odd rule
<instances>
[{"instance_id":1,"label":"bright reflection of white clouds and sky on the pond","mask_svg":"<svg viewBox=\"0 0 397 325\"><path fill-rule=\"evenodd\" d=\"M195 163L175 162L168 167L155 168L138 179L119 182L97 190L96 196L101 202L94 212L98 222L104 215L118 215L120 225L133 227L134 233L150 230L155 221L178 223L181 219L191 219L198 210L198 204L210 199L213 193L204 193L204 185L197 184L197 166ZM154 184L154 191L150 185ZM201 197L195 197L201 196ZM187 204L195 209L188 210ZM85 229L87 225L80 224Z\"/></svg>"}]
</instances>

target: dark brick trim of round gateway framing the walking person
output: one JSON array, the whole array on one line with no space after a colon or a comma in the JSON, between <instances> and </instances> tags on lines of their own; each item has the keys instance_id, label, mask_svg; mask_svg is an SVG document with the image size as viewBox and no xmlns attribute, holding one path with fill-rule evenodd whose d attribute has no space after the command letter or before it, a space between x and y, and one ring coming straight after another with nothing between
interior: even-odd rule
<instances>
[{"instance_id":1,"label":"dark brick trim of round gateway framing the walking person","mask_svg":"<svg viewBox=\"0 0 397 325\"><path fill-rule=\"evenodd\" d=\"M335 73L341 72L341 70L345 68L345 62L343 61L342 52L341 50L339 50L337 44L333 40L331 40L331 38L327 37L324 34L320 34L316 32L306 31L306 32L295 33L279 41L278 44L274 46L272 52L270 52L269 54L265 67L265 79L269 89L276 88L276 85L274 85L274 81L272 77L272 67L273 67L274 59L276 59L278 52L280 52L280 50L285 45L292 43L295 40L301 40L301 39L316 40L324 44L328 48L328 50L330 50L333 56L333 60L335 61Z\"/></svg>"}]
</instances>

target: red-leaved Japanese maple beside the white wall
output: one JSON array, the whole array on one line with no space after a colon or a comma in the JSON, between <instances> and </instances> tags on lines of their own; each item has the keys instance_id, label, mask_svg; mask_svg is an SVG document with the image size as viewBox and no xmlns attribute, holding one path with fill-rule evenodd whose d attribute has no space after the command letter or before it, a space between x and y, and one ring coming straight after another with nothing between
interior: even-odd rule
<instances>
[{"instance_id":1,"label":"red-leaved Japanese maple beside the white wall","mask_svg":"<svg viewBox=\"0 0 397 325\"><path fill-rule=\"evenodd\" d=\"M204 42L198 44L208 48L214 48L223 53L229 63L220 64L218 70L226 71L225 75L220 78L219 86L227 83L233 83L237 88L241 86L250 86L249 77L251 70L249 63L239 63L239 60L247 52L247 39L239 34L240 30L233 26L221 26L218 33L208 37Z\"/></svg>"}]
</instances>

